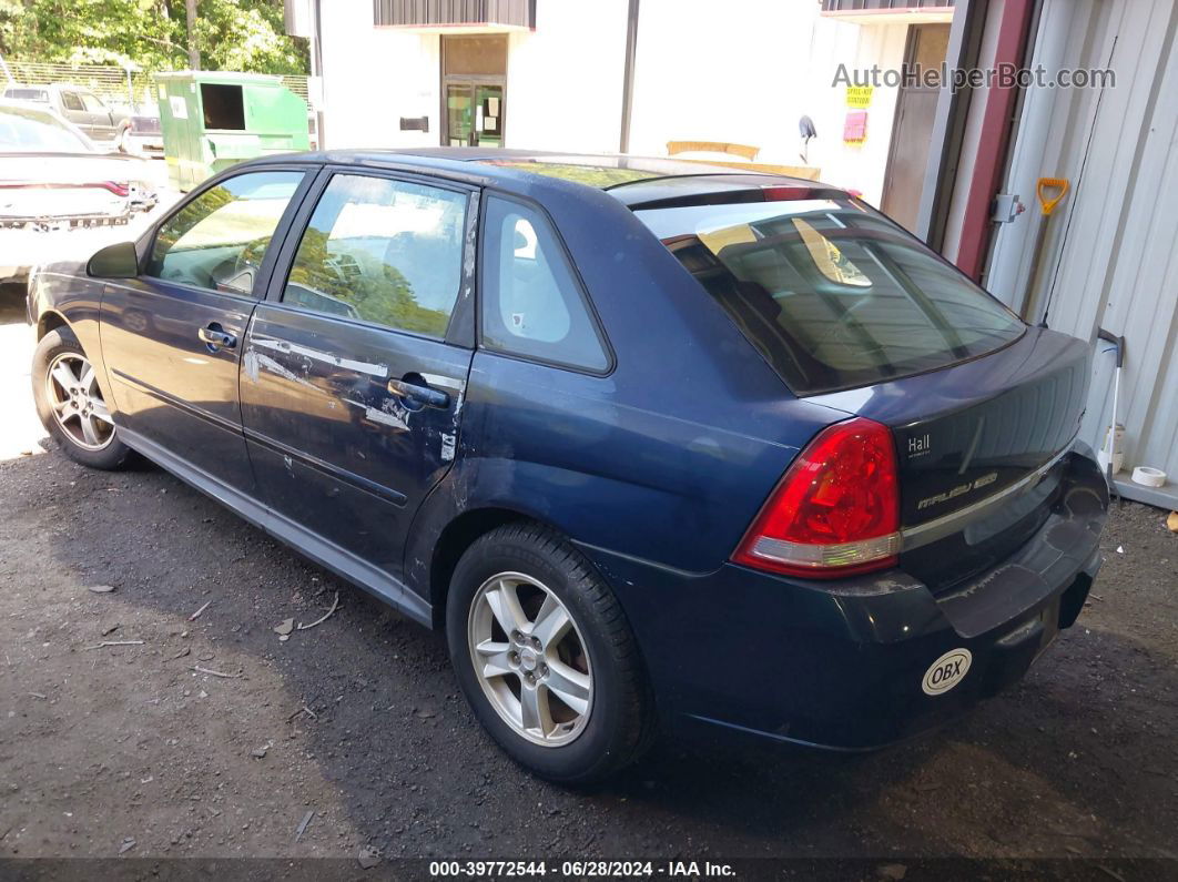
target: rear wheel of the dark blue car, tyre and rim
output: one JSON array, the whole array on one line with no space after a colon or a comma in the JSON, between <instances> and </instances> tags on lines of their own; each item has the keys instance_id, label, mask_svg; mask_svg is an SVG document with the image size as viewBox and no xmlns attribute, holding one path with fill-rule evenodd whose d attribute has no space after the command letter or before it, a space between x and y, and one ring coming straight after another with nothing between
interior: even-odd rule
<instances>
[{"instance_id":1,"label":"rear wheel of the dark blue car, tyre and rim","mask_svg":"<svg viewBox=\"0 0 1178 882\"><path fill-rule=\"evenodd\" d=\"M455 569L446 635L475 715L537 775L585 783L648 747L653 708L629 624L550 531L508 525L475 542Z\"/></svg>"}]
</instances>

